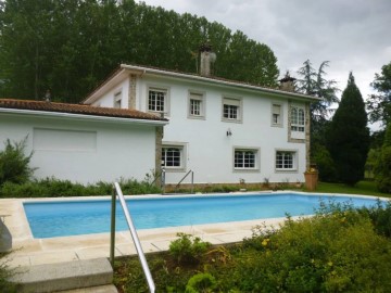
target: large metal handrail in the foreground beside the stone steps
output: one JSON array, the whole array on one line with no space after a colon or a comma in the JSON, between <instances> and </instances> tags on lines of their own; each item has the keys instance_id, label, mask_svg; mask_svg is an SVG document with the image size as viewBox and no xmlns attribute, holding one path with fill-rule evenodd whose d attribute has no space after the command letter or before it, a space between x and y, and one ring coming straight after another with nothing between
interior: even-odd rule
<instances>
[{"instance_id":1,"label":"large metal handrail in the foreground beside the stone steps","mask_svg":"<svg viewBox=\"0 0 391 293\"><path fill-rule=\"evenodd\" d=\"M152 279L152 275L151 275L151 271L148 267L148 263L147 263L147 259L146 259L146 255L142 251L142 247L141 247L141 244L140 244L140 240L138 238L138 234L137 234L137 231L136 231L136 228L135 228L135 225L131 220L131 217L130 217L130 214L129 214L129 209L127 208L127 205L126 205L126 201L125 201L125 198L124 198L124 194L121 190L121 187L118 184L118 182L115 182L114 183L114 189L113 189L113 196L112 196L112 216L111 216L111 238L110 238L110 260L112 263L112 266L114 267L114 246L115 246L115 200L116 200L116 196L115 194L118 196L119 199L119 202L121 202L121 206L124 211L124 215L125 215L125 218L126 218L126 222L129 227L129 231L130 231L130 234L131 234L131 239L135 243L135 246L136 246L136 251L137 251L137 255L140 259L140 263L141 263L141 267L142 267L142 270L143 270L143 273L146 276L146 279L147 279L147 282L148 282L148 286L150 289L150 292L151 293L154 293L155 292L155 284L153 282L153 279Z\"/></svg>"}]
</instances>

